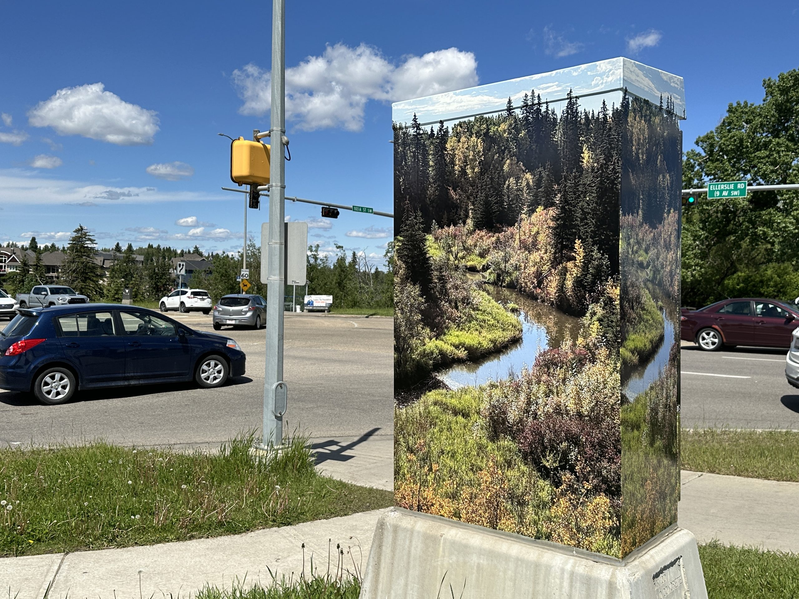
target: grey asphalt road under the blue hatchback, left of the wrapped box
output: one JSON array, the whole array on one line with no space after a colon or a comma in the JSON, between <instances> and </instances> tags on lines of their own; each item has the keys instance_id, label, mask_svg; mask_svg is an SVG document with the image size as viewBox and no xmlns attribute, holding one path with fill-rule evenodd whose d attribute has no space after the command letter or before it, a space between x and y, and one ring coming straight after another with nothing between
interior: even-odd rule
<instances>
[{"instance_id":1,"label":"grey asphalt road under the blue hatchback, left of the wrapped box","mask_svg":"<svg viewBox=\"0 0 799 599\"><path fill-rule=\"evenodd\" d=\"M211 316L169 315L201 331ZM309 437L393 433L393 319L287 313L284 428ZM0 446L103 438L142 446L218 444L259 428L264 331L222 329L247 354L247 373L219 389L193 383L81 392L62 406L0 391Z\"/></svg>"}]
</instances>

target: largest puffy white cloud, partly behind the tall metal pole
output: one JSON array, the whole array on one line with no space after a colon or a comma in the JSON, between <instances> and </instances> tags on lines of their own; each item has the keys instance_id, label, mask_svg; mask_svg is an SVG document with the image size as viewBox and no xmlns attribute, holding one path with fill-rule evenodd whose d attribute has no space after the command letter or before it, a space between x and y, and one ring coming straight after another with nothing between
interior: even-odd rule
<instances>
[{"instance_id":1,"label":"largest puffy white cloud, partly behind the tall metal pole","mask_svg":"<svg viewBox=\"0 0 799 599\"><path fill-rule=\"evenodd\" d=\"M271 104L269 71L250 63L233 71L233 85L244 101L239 113L262 115ZM286 69L286 117L299 129L360 131L370 100L399 101L476 85L477 61L457 48L406 56L392 64L366 44L327 46Z\"/></svg>"}]
</instances>

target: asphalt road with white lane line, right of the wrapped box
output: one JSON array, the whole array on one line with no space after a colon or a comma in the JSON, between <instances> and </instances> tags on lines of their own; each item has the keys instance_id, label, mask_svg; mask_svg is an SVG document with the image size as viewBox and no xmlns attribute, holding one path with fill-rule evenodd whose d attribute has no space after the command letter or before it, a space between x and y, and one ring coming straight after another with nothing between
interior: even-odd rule
<instances>
[{"instance_id":1,"label":"asphalt road with white lane line, right of the wrapped box","mask_svg":"<svg viewBox=\"0 0 799 599\"><path fill-rule=\"evenodd\" d=\"M682 343L682 426L799 430L799 389L785 381L787 349L700 351Z\"/></svg>"}]
</instances>

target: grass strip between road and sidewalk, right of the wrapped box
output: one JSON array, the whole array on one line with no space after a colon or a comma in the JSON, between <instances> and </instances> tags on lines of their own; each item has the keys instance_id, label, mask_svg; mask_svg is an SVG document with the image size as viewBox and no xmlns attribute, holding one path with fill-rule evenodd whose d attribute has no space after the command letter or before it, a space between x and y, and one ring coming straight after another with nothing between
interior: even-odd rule
<instances>
[{"instance_id":1,"label":"grass strip between road and sidewalk, right of the wrapped box","mask_svg":"<svg viewBox=\"0 0 799 599\"><path fill-rule=\"evenodd\" d=\"M799 432L682 430L683 470L799 482Z\"/></svg>"}]
</instances>

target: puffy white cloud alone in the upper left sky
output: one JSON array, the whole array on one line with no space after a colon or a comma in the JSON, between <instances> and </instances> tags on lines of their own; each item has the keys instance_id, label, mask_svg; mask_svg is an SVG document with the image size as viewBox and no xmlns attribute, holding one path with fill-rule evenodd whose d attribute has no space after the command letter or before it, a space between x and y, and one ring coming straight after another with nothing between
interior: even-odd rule
<instances>
[{"instance_id":1,"label":"puffy white cloud alone in the upper left sky","mask_svg":"<svg viewBox=\"0 0 799 599\"><path fill-rule=\"evenodd\" d=\"M28 112L34 127L81 135L117 145L149 145L158 131L154 110L123 101L102 83L59 89Z\"/></svg>"}]
</instances>

